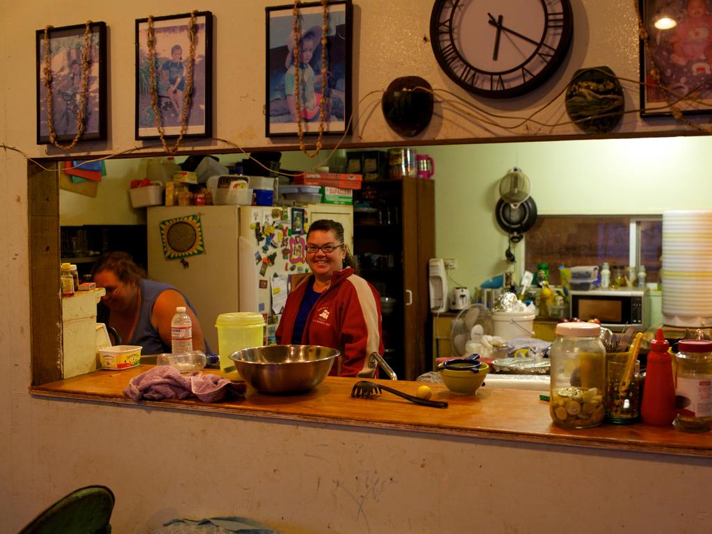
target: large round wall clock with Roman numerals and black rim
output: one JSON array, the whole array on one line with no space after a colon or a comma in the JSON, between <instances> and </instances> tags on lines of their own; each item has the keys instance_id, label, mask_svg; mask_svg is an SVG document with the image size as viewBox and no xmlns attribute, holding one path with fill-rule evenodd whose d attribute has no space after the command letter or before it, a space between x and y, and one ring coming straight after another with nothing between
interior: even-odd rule
<instances>
[{"instance_id":1,"label":"large round wall clock with Roman numerals and black rim","mask_svg":"<svg viewBox=\"0 0 712 534\"><path fill-rule=\"evenodd\" d=\"M430 18L441 68L491 98L523 95L548 80L572 35L569 0L436 0Z\"/></svg>"}]
</instances>

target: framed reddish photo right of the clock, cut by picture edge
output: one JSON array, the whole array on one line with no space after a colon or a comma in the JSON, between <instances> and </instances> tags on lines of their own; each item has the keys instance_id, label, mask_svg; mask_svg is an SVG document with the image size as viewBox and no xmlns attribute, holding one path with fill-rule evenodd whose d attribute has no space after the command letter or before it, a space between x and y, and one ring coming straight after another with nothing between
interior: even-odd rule
<instances>
[{"instance_id":1,"label":"framed reddish photo right of the clock, cut by picture edge","mask_svg":"<svg viewBox=\"0 0 712 534\"><path fill-rule=\"evenodd\" d=\"M684 114L712 112L712 14L708 1L639 0L639 9L648 32L648 46L640 41L641 116L671 115L666 93ZM656 27L663 15L675 22L674 27ZM653 65L659 70L660 85L651 74Z\"/></svg>"}]
</instances>

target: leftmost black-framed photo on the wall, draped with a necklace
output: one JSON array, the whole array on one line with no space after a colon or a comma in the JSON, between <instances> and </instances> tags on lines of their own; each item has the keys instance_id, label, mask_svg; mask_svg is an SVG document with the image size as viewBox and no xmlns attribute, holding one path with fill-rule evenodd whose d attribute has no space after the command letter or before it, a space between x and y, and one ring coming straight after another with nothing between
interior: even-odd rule
<instances>
[{"instance_id":1,"label":"leftmost black-framed photo on the wall, draped with a necklace","mask_svg":"<svg viewBox=\"0 0 712 534\"><path fill-rule=\"evenodd\" d=\"M87 95L84 109L84 132L81 140L106 139L106 24L89 25ZM52 124L58 142L68 142L77 135L77 115L82 93L84 33L86 25L51 28L49 66L52 73ZM37 59L37 144L50 142L47 117L47 88L45 80L45 31L35 33Z\"/></svg>"}]
</instances>

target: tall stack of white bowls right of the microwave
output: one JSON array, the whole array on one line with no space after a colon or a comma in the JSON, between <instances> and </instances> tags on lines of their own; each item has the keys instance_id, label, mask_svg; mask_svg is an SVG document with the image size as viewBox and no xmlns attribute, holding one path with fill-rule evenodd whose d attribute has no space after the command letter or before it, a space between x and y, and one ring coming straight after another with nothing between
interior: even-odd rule
<instances>
[{"instance_id":1,"label":"tall stack of white bowls right of the microwave","mask_svg":"<svg viewBox=\"0 0 712 534\"><path fill-rule=\"evenodd\" d=\"M663 323L712 325L712 211L665 211L662 256Z\"/></svg>"}]
</instances>

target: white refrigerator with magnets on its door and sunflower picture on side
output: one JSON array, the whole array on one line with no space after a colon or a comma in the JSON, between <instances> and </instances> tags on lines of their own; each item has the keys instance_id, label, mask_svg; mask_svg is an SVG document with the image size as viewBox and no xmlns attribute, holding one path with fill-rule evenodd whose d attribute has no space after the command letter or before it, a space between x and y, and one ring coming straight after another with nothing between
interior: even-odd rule
<instances>
[{"instance_id":1,"label":"white refrigerator with magnets on its door and sunflower picture on side","mask_svg":"<svg viewBox=\"0 0 712 534\"><path fill-rule=\"evenodd\" d=\"M340 222L353 250L352 206L148 208L148 276L187 296L214 352L215 320L221 313L261 313L266 342L274 342L293 276L309 271L305 232L318 219Z\"/></svg>"}]
</instances>

